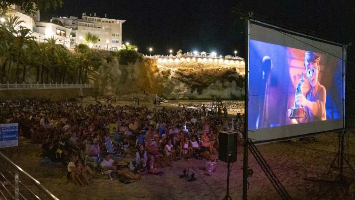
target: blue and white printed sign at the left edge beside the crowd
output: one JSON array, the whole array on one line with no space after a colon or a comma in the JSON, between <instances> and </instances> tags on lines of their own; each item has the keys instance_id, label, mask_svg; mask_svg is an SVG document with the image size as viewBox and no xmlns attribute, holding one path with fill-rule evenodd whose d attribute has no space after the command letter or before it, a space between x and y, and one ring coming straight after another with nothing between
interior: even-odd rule
<instances>
[{"instance_id":1,"label":"blue and white printed sign at the left edge beside the crowd","mask_svg":"<svg viewBox=\"0 0 355 200\"><path fill-rule=\"evenodd\" d=\"M18 146L18 123L0 124L0 148Z\"/></svg>"}]
</instances>

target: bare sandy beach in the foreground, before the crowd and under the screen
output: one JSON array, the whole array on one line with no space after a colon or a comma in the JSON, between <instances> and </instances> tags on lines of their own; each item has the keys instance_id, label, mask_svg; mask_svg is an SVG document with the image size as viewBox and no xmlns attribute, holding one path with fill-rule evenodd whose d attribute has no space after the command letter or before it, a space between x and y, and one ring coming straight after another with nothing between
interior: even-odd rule
<instances>
[{"instance_id":1,"label":"bare sandy beach in the foreground, before the crowd and under the screen","mask_svg":"<svg viewBox=\"0 0 355 200\"><path fill-rule=\"evenodd\" d=\"M329 165L337 151L338 135L325 133L316 136L316 142L275 142L258 145L260 152L273 172L293 199L353 199L349 184L341 185L328 181L306 180L307 174L319 179L332 180L338 174L333 170L327 174ZM346 137L346 145L354 146L355 136ZM314 150L318 149L318 150ZM354 149L354 148L350 148ZM1 149L15 163L38 179L59 199L222 199L226 190L226 163L217 162L217 171L204 175L206 160L182 159L172 167L161 168L162 175L145 175L130 184L110 180L105 175L93 179L93 186L78 187L70 183L66 167L40 164L37 156L40 147L20 138L18 147ZM345 151L348 152L347 150ZM349 151L354 155L354 150ZM215 155L217 157L217 155ZM350 164L354 166L354 156ZM128 157L126 159L133 159ZM249 199L280 199L266 175L249 153L249 168L254 174L249 181ZM346 166L346 165L345 165ZM193 169L197 180L189 182L179 175L185 168ZM232 199L242 198L242 148L238 147L237 162L233 163L230 176ZM354 182L355 174L349 168L344 172L348 183Z\"/></svg>"}]
</instances>

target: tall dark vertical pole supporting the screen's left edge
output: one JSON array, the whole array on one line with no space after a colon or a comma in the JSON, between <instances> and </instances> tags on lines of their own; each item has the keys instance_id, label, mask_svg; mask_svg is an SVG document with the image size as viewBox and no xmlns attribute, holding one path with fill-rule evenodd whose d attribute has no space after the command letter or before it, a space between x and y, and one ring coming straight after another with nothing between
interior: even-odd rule
<instances>
[{"instance_id":1,"label":"tall dark vertical pole supporting the screen's left edge","mask_svg":"<svg viewBox=\"0 0 355 200\"><path fill-rule=\"evenodd\" d=\"M245 17L245 92L244 92L244 133L243 133L243 200L247 199L248 190L248 74L249 74L249 17Z\"/></svg>"}]
</instances>

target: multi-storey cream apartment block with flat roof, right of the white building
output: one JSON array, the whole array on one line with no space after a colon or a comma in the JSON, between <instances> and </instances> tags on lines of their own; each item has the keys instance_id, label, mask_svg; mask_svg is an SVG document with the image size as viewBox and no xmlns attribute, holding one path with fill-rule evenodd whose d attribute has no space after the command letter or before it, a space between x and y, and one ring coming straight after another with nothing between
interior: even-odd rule
<instances>
[{"instance_id":1,"label":"multi-storey cream apartment block with flat roof, right of the white building","mask_svg":"<svg viewBox=\"0 0 355 200\"><path fill-rule=\"evenodd\" d=\"M105 17L98 17L96 13L92 16L83 13L81 19L78 17L53 17L51 22L71 28L71 47L80 43L85 43L85 34L90 32L97 35L99 41L97 44L89 44L93 48L118 50L122 44L122 23L125 20L109 19Z\"/></svg>"}]
</instances>

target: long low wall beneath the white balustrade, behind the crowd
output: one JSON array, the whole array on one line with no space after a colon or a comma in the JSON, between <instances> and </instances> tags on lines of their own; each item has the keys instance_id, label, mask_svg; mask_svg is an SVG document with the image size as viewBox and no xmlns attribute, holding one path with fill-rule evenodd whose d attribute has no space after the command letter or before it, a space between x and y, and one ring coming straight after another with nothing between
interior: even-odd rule
<instances>
[{"instance_id":1,"label":"long low wall beneath the white balustrade, behind the crowd","mask_svg":"<svg viewBox=\"0 0 355 200\"><path fill-rule=\"evenodd\" d=\"M83 95L94 94L93 88L83 88ZM14 89L0 90L0 99L50 99L52 101L60 101L73 98L79 98L78 88L63 88L63 89Z\"/></svg>"}]
</instances>

